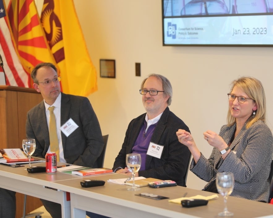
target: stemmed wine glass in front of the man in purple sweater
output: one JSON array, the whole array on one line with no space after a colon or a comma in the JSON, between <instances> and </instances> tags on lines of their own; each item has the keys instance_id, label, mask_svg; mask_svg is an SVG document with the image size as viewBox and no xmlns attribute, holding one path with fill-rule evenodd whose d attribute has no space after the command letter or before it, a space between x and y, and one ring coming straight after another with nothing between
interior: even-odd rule
<instances>
[{"instance_id":1,"label":"stemmed wine glass in front of the man in purple sweater","mask_svg":"<svg viewBox=\"0 0 273 218\"><path fill-rule=\"evenodd\" d=\"M134 184L134 176L136 172L139 172L141 165L141 156L140 154L127 154L126 155L126 165L130 172L133 174L133 186L128 188L129 191L136 191L140 188L136 187Z\"/></svg>"}]
</instances>

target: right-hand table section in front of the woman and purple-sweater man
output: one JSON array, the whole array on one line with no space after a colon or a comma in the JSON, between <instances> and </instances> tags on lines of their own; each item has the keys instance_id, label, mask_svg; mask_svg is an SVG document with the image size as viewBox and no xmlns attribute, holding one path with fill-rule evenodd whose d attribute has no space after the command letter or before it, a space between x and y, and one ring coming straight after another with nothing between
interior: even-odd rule
<instances>
[{"instance_id":1,"label":"right-hand table section in front of the woman and purple-sweater man","mask_svg":"<svg viewBox=\"0 0 273 218\"><path fill-rule=\"evenodd\" d=\"M105 185L99 187L82 188L80 181L55 181L52 186L70 192L71 217L85 217L85 211L95 212L109 217L217 217L224 210L224 200L221 195L217 200L210 200L206 206L183 208L181 204L170 203L169 199L187 196L210 196L214 193L194 190L181 186L150 188L142 187L140 191L128 191L127 185L107 182L109 179L124 178L120 174L105 174L101 176L84 177L84 180L104 180ZM169 199L153 200L136 196L148 192ZM233 217L273 217L273 205L251 200L228 197L228 210L234 213Z\"/></svg>"}]
</instances>

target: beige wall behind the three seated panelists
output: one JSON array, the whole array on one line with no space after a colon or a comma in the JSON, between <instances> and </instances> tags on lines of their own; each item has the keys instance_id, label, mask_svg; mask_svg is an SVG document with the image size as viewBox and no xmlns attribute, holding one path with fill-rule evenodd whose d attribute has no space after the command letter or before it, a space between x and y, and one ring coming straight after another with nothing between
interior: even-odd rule
<instances>
[{"instance_id":1,"label":"beige wall behind the three seated panelists","mask_svg":"<svg viewBox=\"0 0 273 218\"><path fill-rule=\"evenodd\" d=\"M189 126L206 157L212 147L203 139L203 132L219 132L226 123L229 84L239 76L254 76L263 83L272 129L272 47L166 47L162 46L160 0L74 3L97 69L99 90L88 98L102 133L109 134L105 167L112 168L130 120L145 112L138 90L150 73L165 75L171 81L170 110ZM99 59L116 60L116 79L100 78ZM135 76L135 62L141 63L141 77ZM204 184L189 172L189 188L201 189Z\"/></svg>"}]
</instances>

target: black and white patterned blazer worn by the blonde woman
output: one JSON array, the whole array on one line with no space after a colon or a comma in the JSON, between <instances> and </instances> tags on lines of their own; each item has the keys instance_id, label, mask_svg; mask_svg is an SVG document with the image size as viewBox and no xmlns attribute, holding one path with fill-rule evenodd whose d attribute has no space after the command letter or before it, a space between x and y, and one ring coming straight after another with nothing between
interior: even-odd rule
<instances>
[{"instance_id":1,"label":"black and white patterned blazer worn by the blonde woman","mask_svg":"<svg viewBox=\"0 0 273 218\"><path fill-rule=\"evenodd\" d=\"M219 135L229 144L235 130L236 123L231 127L224 125ZM217 172L232 172L235 183L231 196L267 201L270 186L268 177L273 152L273 137L269 127L260 120L248 129L244 125L232 141L230 148L231 152L224 160L215 147L209 159L201 154L196 164L194 160L192 161L190 170L208 182L204 189L215 180Z\"/></svg>"}]
</instances>

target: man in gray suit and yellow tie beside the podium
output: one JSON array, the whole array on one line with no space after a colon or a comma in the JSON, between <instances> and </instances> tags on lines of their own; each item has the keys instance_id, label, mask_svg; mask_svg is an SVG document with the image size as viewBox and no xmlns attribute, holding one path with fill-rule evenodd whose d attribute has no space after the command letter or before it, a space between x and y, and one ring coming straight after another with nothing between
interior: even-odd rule
<instances>
[{"instance_id":1,"label":"man in gray suit and yellow tie beside the podium","mask_svg":"<svg viewBox=\"0 0 273 218\"><path fill-rule=\"evenodd\" d=\"M35 139L36 150L33 156L45 158L50 151L48 108L54 106L59 161L85 167L97 168L97 158L103 149L100 124L86 97L66 95L60 91L60 78L56 67L51 63L38 64L31 73L33 87L41 92L44 101L33 107L27 114L26 135ZM62 125L75 123L73 132L65 132ZM42 200L53 218L61 217L61 205Z\"/></svg>"}]
</instances>

